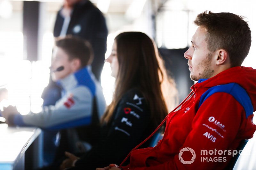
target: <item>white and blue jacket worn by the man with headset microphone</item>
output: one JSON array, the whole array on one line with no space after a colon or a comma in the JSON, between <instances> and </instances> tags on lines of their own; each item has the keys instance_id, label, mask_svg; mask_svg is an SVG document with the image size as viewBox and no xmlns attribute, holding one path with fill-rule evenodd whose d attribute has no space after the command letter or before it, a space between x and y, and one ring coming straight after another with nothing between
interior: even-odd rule
<instances>
[{"instance_id":1,"label":"white and blue jacket worn by the man with headset microphone","mask_svg":"<svg viewBox=\"0 0 256 170\"><path fill-rule=\"evenodd\" d=\"M62 97L54 106L45 106L40 113L15 115L12 123L20 126L37 126L43 129L66 129L89 125L92 122L93 98L96 98L98 117L106 107L100 83L88 67L70 74L58 82Z\"/></svg>"}]
</instances>

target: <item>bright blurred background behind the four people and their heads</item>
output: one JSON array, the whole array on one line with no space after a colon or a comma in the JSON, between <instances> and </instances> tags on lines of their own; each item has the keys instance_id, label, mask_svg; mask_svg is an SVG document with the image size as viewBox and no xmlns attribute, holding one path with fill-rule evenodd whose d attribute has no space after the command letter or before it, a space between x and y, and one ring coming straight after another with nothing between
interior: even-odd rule
<instances>
[{"instance_id":1,"label":"bright blurred background behind the four people and their heads","mask_svg":"<svg viewBox=\"0 0 256 170\"><path fill-rule=\"evenodd\" d=\"M91 0L104 14L108 26L107 58L114 37L123 31L141 31L156 41L179 90L180 100L194 83L189 79L184 52L190 45L196 15L232 12L246 17L252 30L252 46L243 66L256 69L256 13L253 0ZM0 107L16 105L21 114L41 111L41 94L49 83L53 25L62 0L0 0ZM114 78L105 63L101 84L107 104ZM4 93L4 92L3 92ZM7 100L8 99L8 100ZM250 155L250 159L252 155ZM256 158L254 158L256 159ZM247 158L248 161L248 158ZM248 165L250 166L250 165ZM249 168L250 169L250 168Z\"/></svg>"}]
</instances>

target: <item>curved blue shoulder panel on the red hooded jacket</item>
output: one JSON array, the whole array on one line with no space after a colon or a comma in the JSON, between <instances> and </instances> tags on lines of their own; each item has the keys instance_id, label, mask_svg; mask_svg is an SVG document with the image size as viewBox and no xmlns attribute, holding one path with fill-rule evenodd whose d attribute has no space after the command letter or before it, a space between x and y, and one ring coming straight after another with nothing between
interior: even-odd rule
<instances>
[{"instance_id":1,"label":"curved blue shoulder panel on the red hooded jacket","mask_svg":"<svg viewBox=\"0 0 256 170\"><path fill-rule=\"evenodd\" d=\"M244 107L246 118L253 114L252 101L250 97L248 96L244 88L236 83L229 83L225 85L217 85L211 87L206 92L204 92L204 94L202 94L198 108L208 97L216 92L226 92L232 95Z\"/></svg>"}]
</instances>

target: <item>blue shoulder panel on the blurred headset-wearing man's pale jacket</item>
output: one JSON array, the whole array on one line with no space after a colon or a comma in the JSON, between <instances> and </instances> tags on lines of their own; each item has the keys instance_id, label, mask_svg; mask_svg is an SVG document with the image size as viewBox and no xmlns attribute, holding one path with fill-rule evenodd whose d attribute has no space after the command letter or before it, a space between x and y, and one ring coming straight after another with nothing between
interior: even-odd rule
<instances>
[{"instance_id":1,"label":"blue shoulder panel on the blurred headset-wearing man's pale jacket","mask_svg":"<svg viewBox=\"0 0 256 170\"><path fill-rule=\"evenodd\" d=\"M92 77L87 69L87 67L84 67L83 69L77 71L75 73L75 77L77 79L78 85L84 85L90 89L92 92L92 96L95 96L96 93L96 85L94 81L92 80Z\"/></svg>"}]
</instances>

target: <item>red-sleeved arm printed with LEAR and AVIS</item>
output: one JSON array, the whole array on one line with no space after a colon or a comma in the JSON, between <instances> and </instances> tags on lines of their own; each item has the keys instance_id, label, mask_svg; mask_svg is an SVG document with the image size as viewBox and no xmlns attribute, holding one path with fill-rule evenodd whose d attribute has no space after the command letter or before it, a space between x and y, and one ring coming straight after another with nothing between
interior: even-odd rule
<instances>
[{"instance_id":1,"label":"red-sleeved arm printed with LEAR and AVIS","mask_svg":"<svg viewBox=\"0 0 256 170\"><path fill-rule=\"evenodd\" d=\"M228 154L228 150L235 150L239 142L244 138L251 138L255 130L255 125L252 124L253 114L246 118L244 108L238 103L233 96L227 93L215 93L203 102L201 107L196 112L196 116L192 121L192 129L188 134L184 144L179 148L191 148L195 154L195 160L187 165L181 163L179 153L171 156L169 161L156 166L137 167L136 158L144 157L140 155L140 151L132 153L137 157L131 155L130 169L132 170L155 170L155 169L218 169L223 165L228 165L232 154ZM175 118L175 116L174 116ZM246 120L245 120L246 119ZM180 127L182 128L182 127ZM175 129L168 129L175 130ZM163 142L163 141L161 141ZM168 145L173 143L169 141ZM161 145L161 143L160 143ZM203 152L202 152L203 150ZM217 151L216 154L209 154L209 151ZM203 155L204 151L208 151L208 155ZM219 155L218 151L222 151ZM226 151L224 155L224 151ZM201 155L202 153L202 155ZM207 157L206 161L203 158ZM217 157L217 161L216 161ZM190 152L183 152L182 159L190 161L192 154ZM150 161L150 160L149 160ZM113 162L112 162L113 163ZM125 168L124 168L125 169Z\"/></svg>"}]
</instances>

